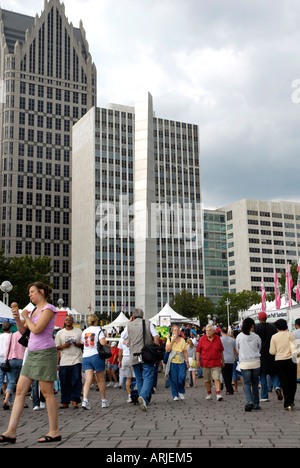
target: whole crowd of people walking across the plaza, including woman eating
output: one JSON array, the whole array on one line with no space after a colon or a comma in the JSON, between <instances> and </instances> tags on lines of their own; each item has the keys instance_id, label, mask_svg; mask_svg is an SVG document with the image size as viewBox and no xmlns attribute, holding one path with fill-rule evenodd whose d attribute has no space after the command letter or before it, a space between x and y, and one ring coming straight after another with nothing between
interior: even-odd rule
<instances>
[{"instance_id":1,"label":"whole crowd of people walking across the plaza, including woman eating","mask_svg":"<svg viewBox=\"0 0 300 468\"><path fill-rule=\"evenodd\" d=\"M88 327L83 331L67 315L64 328L54 334L57 311L49 303L50 288L34 283L28 293L34 310L25 310L20 317L17 304L12 304L18 331L11 333L10 324L5 323L0 335L0 364L9 363L9 370L4 365L0 369L3 409L12 410L0 443L16 442L28 392L34 411L48 411L49 432L38 442L51 443L61 440L55 390L60 390L61 409L71 405L90 410L92 386L99 389L102 408L109 407L108 387L124 388L124 402L138 403L142 411L147 411L159 370L165 374L165 387L170 388L174 401L184 400L186 388L196 388L198 378L203 378L206 400L212 400L215 392L216 400L222 401L222 391L234 395L240 379L246 412L261 410L261 402L268 401L270 387L283 401L285 410L291 411L295 405L300 319L296 320L294 333L288 331L285 320L271 324L261 312L258 324L251 317L231 329L213 323L202 329L174 324L168 338L162 338L144 319L143 311L136 309L119 335L113 331L112 339L98 326L96 315L88 317ZM108 344L109 355L104 356ZM144 349L153 344L163 349L164 355L149 360Z\"/></svg>"}]
</instances>

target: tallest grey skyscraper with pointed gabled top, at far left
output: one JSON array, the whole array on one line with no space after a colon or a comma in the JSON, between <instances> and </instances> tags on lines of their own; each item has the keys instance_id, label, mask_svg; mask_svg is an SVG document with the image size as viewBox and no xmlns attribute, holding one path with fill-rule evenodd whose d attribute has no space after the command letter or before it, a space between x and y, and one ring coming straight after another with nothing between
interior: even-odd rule
<instances>
[{"instance_id":1,"label":"tallest grey skyscraper with pointed gabled top, at far left","mask_svg":"<svg viewBox=\"0 0 300 468\"><path fill-rule=\"evenodd\" d=\"M0 248L51 257L69 305L72 126L96 103L96 68L59 0L35 18L0 9L0 34Z\"/></svg>"}]
</instances>

